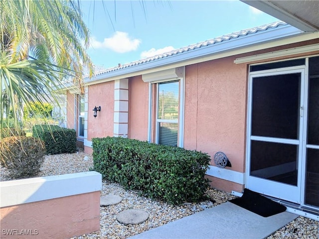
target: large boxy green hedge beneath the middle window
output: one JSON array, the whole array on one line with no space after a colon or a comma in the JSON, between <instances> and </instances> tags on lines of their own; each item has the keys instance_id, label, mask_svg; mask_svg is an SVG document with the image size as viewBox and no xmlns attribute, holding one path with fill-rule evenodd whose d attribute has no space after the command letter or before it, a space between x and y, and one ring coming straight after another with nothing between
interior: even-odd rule
<instances>
[{"instance_id":1,"label":"large boxy green hedge beneath the middle window","mask_svg":"<svg viewBox=\"0 0 319 239\"><path fill-rule=\"evenodd\" d=\"M121 137L92 142L94 170L127 189L180 204L200 201L208 187L206 153Z\"/></svg>"}]
</instances>

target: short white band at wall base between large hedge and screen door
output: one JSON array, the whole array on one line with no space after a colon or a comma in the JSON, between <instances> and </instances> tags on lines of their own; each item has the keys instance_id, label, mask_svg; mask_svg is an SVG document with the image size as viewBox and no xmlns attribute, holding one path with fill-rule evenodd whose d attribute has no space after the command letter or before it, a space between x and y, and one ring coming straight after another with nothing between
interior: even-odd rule
<instances>
[{"instance_id":1,"label":"short white band at wall base between large hedge and screen door","mask_svg":"<svg viewBox=\"0 0 319 239\"><path fill-rule=\"evenodd\" d=\"M225 169L225 168L218 168L216 166L209 165L206 175L212 176L215 178L220 178L223 180L231 181L238 184L245 184L245 173Z\"/></svg>"}]
</instances>

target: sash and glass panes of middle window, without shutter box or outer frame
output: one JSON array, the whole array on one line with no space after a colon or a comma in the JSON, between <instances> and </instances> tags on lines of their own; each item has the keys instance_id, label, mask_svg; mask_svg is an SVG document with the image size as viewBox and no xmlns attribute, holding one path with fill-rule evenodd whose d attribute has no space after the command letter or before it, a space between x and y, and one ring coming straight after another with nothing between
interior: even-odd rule
<instances>
[{"instance_id":1,"label":"sash and glass panes of middle window, without shutter box or outer frame","mask_svg":"<svg viewBox=\"0 0 319 239\"><path fill-rule=\"evenodd\" d=\"M157 91L157 143L178 145L179 82L158 84Z\"/></svg>"}]
</instances>

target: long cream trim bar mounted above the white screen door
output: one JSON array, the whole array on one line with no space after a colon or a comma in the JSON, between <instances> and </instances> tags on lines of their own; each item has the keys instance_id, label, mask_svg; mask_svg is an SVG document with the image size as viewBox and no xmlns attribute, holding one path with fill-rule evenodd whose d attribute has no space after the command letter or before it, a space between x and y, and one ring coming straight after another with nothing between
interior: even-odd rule
<instances>
[{"instance_id":1,"label":"long cream trim bar mounted above the white screen door","mask_svg":"<svg viewBox=\"0 0 319 239\"><path fill-rule=\"evenodd\" d=\"M234 60L234 63L240 64L240 63L247 63L252 61L267 60L271 58L295 55L300 53L308 53L312 51L319 51L319 44L300 46L300 47L295 47L295 48L290 48L290 49L285 49L280 51L272 51L272 52L259 54L259 55L253 55L253 56L240 57L240 58L236 58L236 60Z\"/></svg>"}]
</instances>

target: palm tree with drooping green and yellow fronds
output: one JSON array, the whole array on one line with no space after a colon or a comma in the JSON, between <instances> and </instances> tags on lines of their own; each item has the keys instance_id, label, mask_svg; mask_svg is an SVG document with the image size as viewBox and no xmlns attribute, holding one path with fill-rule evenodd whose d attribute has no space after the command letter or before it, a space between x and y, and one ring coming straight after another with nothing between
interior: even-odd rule
<instances>
[{"instance_id":1,"label":"palm tree with drooping green and yellow fronds","mask_svg":"<svg viewBox=\"0 0 319 239\"><path fill-rule=\"evenodd\" d=\"M0 30L0 129L10 111L18 125L23 104L48 101L66 78L81 87L86 69L93 74L78 0L0 0Z\"/></svg>"}]
</instances>

